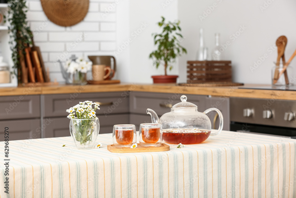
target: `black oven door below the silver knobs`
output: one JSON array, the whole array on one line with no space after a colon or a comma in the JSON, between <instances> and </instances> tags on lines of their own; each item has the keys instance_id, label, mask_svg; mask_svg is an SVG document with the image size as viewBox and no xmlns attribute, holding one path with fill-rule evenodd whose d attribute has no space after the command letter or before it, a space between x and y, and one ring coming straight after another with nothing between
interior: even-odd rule
<instances>
[{"instance_id":1,"label":"black oven door below the silver knobs","mask_svg":"<svg viewBox=\"0 0 296 198\"><path fill-rule=\"evenodd\" d=\"M296 139L296 129L288 127L268 126L250 123L231 122L230 131L255 133Z\"/></svg>"}]
</instances>

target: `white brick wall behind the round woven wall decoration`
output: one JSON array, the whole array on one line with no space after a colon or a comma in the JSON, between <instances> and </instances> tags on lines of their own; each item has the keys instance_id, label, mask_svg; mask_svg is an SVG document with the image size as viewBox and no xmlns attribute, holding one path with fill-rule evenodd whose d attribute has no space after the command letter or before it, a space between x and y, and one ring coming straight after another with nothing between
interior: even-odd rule
<instances>
[{"instance_id":1,"label":"white brick wall behind the round woven wall decoration","mask_svg":"<svg viewBox=\"0 0 296 198\"><path fill-rule=\"evenodd\" d=\"M34 42L40 47L44 64L53 81L65 82L58 59L65 62L72 54L87 58L90 55L113 55L116 45L116 7L114 0L90 0L89 12L84 20L72 27L58 26L49 21L40 0L27 0L27 20L34 33ZM111 9L106 14L105 9Z\"/></svg>"}]
</instances>

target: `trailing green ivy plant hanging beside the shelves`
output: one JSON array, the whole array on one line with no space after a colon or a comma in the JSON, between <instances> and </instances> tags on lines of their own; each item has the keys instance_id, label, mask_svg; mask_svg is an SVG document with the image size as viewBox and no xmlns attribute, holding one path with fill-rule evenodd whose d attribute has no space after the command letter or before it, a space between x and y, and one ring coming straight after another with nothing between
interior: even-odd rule
<instances>
[{"instance_id":1,"label":"trailing green ivy plant hanging beside the shelves","mask_svg":"<svg viewBox=\"0 0 296 198\"><path fill-rule=\"evenodd\" d=\"M5 13L5 22L8 22L10 40L9 45L12 51L12 74L16 75L21 72L20 53L25 53L24 48L32 44L32 31L28 26L26 12L28 7L25 0L8 0L9 9Z\"/></svg>"}]
</instances>

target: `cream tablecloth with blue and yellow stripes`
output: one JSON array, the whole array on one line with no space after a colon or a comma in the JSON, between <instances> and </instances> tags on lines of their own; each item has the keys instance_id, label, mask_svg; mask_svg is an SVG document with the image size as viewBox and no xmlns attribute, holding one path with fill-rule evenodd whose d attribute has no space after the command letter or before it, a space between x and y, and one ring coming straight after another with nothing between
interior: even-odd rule
<instances>
[{"instance_id":1,"label":"cream tablecloth with blue and yellow stripes","mask_svg":"<svg viewBox=\"0 0 296 198\"><path fill-rule=\"evenodd\" d=\"M2 160L1 198L296 197L296 140L223 131L150 153L110 153L112 134L98 142L77 150L71 137L10 141L9 195Z\"/></svg>"}]
</instances>

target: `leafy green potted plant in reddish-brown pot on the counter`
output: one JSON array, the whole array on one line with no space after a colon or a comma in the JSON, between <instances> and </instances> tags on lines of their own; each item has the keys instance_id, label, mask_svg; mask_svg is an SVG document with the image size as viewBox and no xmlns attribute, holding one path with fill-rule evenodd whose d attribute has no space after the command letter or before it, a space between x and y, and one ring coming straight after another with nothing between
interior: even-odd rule
<instances>
[{"instance_id":1,"label":"leafy green potted plant in reddish-brown pot on the counter","mask_svg":"<svg viewBox=\"0 0 296 198\"><path fill-rule=\"evenodd\" d=\"M157 50L153 51L149 58L153 59L153 65L158 68L160 64L165 67L165 75L152 76L154 83L176 83L177 75L167 75L167 69L171 70L173 66L169 65L176 61L181 53L187 53L186 49L180 45L180 41L183 39L180 33L181 28L179 26L180 21L165 23L165 18L158 22L159 27L163 27L163 31L159 34L154 33L154 45L157 46Z\"/></svg>"}]
</instances>

